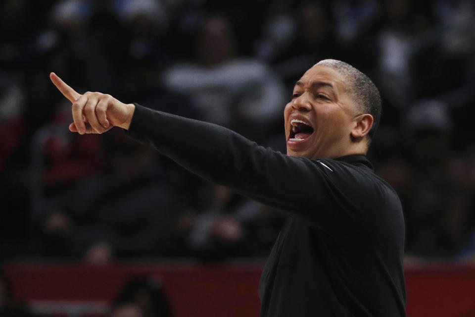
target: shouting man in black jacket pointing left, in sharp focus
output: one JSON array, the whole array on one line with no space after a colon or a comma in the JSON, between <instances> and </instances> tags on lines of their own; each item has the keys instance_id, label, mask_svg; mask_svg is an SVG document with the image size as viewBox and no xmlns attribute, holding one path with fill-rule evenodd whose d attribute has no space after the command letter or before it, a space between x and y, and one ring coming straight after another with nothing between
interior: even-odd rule
<instances>
[{"instance_id":1,"label":"shouting man in black jacket pointing left, in sharp focus","mask_svg":"<svg viewBox=\"0 0 475 317\"><path fill-rule=\"evenodd\" d=\"M223 127L80 95L73 132L112 126L190 171L289 214L259 285L261 316L405 316L404 219L394 190L366 152L380 96L354 67L323 60L295 84L284 111L287 155Z\"/></svg>"}]
</instances>

